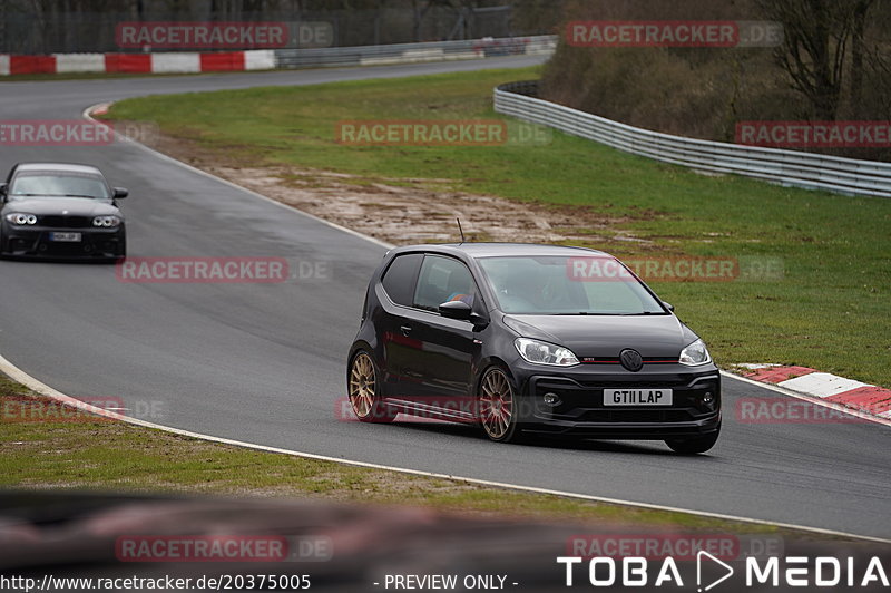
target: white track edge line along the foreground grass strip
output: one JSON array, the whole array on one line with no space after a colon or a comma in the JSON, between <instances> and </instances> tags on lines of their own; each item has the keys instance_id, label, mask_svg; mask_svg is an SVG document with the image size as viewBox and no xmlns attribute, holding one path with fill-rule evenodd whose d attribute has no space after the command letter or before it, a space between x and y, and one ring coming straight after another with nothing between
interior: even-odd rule
<instances>
[{"instance_id":1,"label":"white track edge line along the foreground grass strip","mask_svg":"<svg viewBox=\"0 0 891 593\"><path fill-rule=\"evenodd\" d=\"M200 432L193 432L190 430L183 430L180 428L173 428L173 427L168 427L168 426L164 426L164 425L158 425L158 424L155 424L155 422L148 422L146 420L139 420L138 418L129 418L127 416L121 416L119 414L110 412L110 411L107 411L107 410L105 410L102 408L99 408L99 407L96 407L96 406L91 406L91 405L89 405L89 404L87 404L85 401L81 401L81 400L79 400L77 398L74 398L71 396L67 396L67 395L62 393L61 391L58 391L58 390L49 387L48 385L41 382L40 380L31 377L30 375L28 375L23 370L19 369L18 367L16 367L12 362L7 360L2 356L0 356L0 371L4 372L6 375L8 375L13 380L22 383L23 386L28 387L29 389L31 389L31 390L33 390L33 391L42 395L42 396L49 397L49 398L51 398L53 400L57 400L57 401L60 401L62 404L68 404L70 406L74 406L76 408L82 409L84 411L87 411L87 412L90 412L90 414L95 414L97 416L102 416L102 417L106 417L106 418L111 418L111 419L115 419L115 420L120 420L123 422L135 425L135 426L140 426L140 427L144 427L144 428L151 428L151 429L156 429L156 430L161 430L164 432L170 432L170 434L174 434L174 435L179 435L179 436L183 436L183 437L196 438L196 439L206 440L206 441L210 441L210 443L218 443L221 445L231 445L231 446L242 447L242 448L246 448L246 449L254 449L254 450L261 450L261 451L266 451L266 453L290 455L292 457L302 457L302 458L305 458L305 459L315 459L315 460L319 460L319 461L330 461L330 463L351 465L351 466L356 466L356 467L365 467L365 468L369 468L369 469L382 469L382 470L386 470L386 472L396 472L396 473L400 473L400 474L408 474L408 475L413 475L413 476L422 476L422 477L428 477L428 478L458 480L458 482L463 482L463 483L467 483L467 484L474 484L474 485L479 485L479 486L505 488L505 489L526 492L526 493L532 493L532 494L546 494L546 495L551 495L551 496L561 496L561 497L566 497L566 498L576 498L576 499L589 500L589 502L595 502L595 503L605 503L605 504L611 504L611 505L630 506L630 507L635 507L635 508L646 508L646 509L650 509L650 511L663 511L663 512L668 512L668 513L684 513L684 514L687 514L687 515L696 515L696 516L716 518L716 519L722 519L722 521L733 521L733 522L737 522L737 523L750 523L750 524L753 524L753 525L768 525L768 526L774 526L774 527L780 527L780 528L785 528L785 529L800 531L800 532L806 532L806 533L813 533L813 534L819 534L819 535L844 537L844 538L850 538L850 539L862 539L862 541L874 542L874 543L880 543L880 544L891 544L891 539L884 539L884 538L881 538L881 537L873 537L873 536L869 536L869 535L858 535L858 534L852 534L852 533L846 533L846 532L839 532L839 531L834 531L834 529L824 529L822 527L810 527L810 526L806 526L806 525L796 525L796 524L792 524L792 523L777 523L777 522L773 522L773 521L756 519L756 518L751 518L751 517L741 517L741 516L727 515L727 514L723 514L723 513L711 513L711 512L707 512L707 511L693 511L693 509L688 509L688 508L679 508L679 507L673 507L673 506L656 505L656 504L650 504L650 503L639 503L639 502L634 502L634 500L623 500L623 499L619 499L619 498L608 498L608 497L605 497L605 496L595 496L595 495L590 495L590 494L578 494L578 493L555 490L555 489L550 489L550 488L539 488L539 487L536 487L536 486L522 486L522 485L518 485L518 484L508 484L508 483L503 483L503 482L493 482L493 480L479 479L479 478L469 478L469 477L456 476L456 475L451 475L451 474L438 474L438 473L434 473L434 472L424 472L424 470L421 470L421 469L411 469L411 468L405 468L405 467L395 467L395 466L388 466L388 465L382 465L382 464L372 464L372 463L369 463L369 461L356 461L356 460L351 460L351 459L342 459L342 458L339 458L339 457L330 457L330 456L326 456L326 455L317 455L317 454L314 454L314 453L297 451L297 450L293 450L293 449L283 449L283 448L280 448L280 447L270 447L270 446L266 446L266 445L257 445L257 444L254 444L254 443L246 443L246 441L243 441L243 440L235 440L235 439L229 439L229 438L224 438L224 437L214 437L214 436L210 436L210 435L203 435Z\"/></svg>"}]
</instances>

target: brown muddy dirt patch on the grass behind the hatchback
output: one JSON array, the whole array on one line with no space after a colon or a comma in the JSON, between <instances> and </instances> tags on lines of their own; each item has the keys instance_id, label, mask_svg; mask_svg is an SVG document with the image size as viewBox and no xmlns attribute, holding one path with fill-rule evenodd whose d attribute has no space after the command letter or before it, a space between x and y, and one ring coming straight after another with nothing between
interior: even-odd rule
<instances>
[{"instance_id":1,"label":"brown muddy dirt patch on the grass behind the hatchback","mask_svg":"<svg viewBox=\"0 0 891 593\"><path fill-rule=\"evenodd\" d=\"M116 123L116 126L127 123ZM164 135L141 138L178 161L320 218L395 245L459 240L604 246L649 245L616 226L626 218L593 208L556 206L456 192L450 179L369 179L294 166L263 166L226 157L198 143Z\"/></svg>"}]
</instances>

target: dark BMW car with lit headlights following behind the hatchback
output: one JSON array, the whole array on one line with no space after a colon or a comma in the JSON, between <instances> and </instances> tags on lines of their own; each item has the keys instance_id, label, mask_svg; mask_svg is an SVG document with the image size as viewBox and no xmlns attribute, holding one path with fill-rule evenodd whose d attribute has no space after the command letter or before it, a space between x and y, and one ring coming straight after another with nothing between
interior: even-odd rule
<instances>
[{"instance_id":1,"label":"dark BMW car with lit headlights following behind the hatchback","mask_svg":"<svg viewBox=\"0 0 891 593\"><path fill-rule=\"evenodd\" d=\"M125 257L123 197L94 166L20 163L0 183L0 256Z\"/></svg>"}]
</instances>

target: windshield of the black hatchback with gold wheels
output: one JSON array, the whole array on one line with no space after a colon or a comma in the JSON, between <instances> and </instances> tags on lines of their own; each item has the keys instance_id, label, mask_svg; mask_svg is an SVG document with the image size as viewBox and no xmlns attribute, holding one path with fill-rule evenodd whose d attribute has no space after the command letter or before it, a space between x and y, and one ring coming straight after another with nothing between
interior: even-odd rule
<instances>
[{"instance_id":1,"label":"windshield of the black hatchback with gold wheels","mask_svg":"<svg viewBox=\"0 0 891 593\"><path fill-rule=\"evenodd\" d=\"M479 260L501 311L530 315L668 314L610 256L511 256Z\"/></svg>"}]
</instances>

